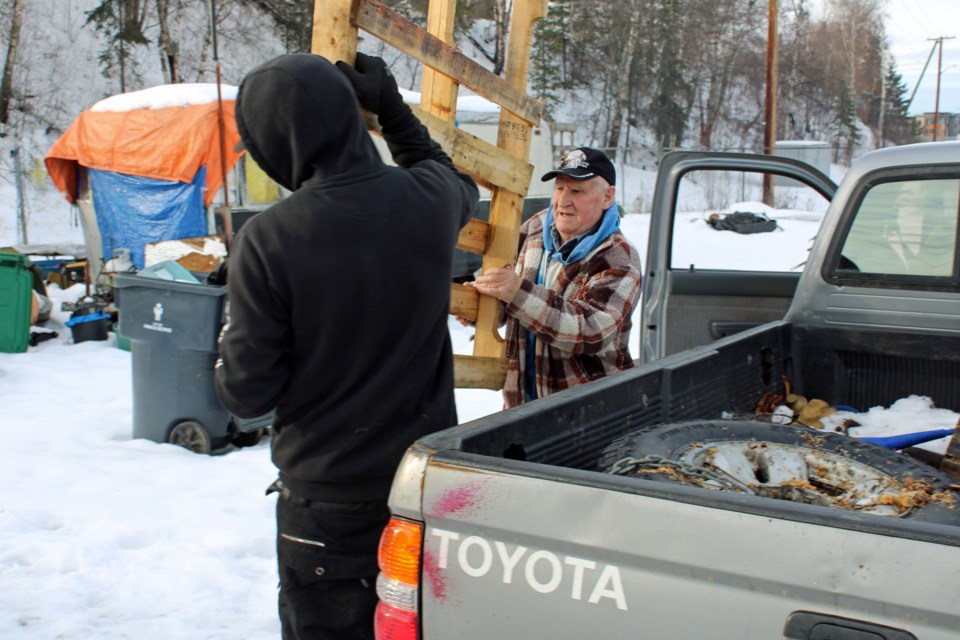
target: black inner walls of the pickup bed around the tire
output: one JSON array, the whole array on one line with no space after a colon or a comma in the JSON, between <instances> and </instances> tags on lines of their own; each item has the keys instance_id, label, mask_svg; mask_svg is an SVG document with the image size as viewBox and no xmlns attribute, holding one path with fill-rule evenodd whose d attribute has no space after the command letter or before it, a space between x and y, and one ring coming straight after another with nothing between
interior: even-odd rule
<instances>
[{"instance_id":1,"label":"black inner walls of the pickup bed around the tire","mask_svg":"<svg viewBox=\"0 0 960 640\"><path fill-rule=\"evenodd\" d=\"M766 392L865 411L910 394L960 411L960 335L776 322L538 403L529 419L497 414L424 439L494 458L596 470L615 438L657 423L752 414ZM733 404L732 401L735 401Z\"/></svg>"}]
</instances>

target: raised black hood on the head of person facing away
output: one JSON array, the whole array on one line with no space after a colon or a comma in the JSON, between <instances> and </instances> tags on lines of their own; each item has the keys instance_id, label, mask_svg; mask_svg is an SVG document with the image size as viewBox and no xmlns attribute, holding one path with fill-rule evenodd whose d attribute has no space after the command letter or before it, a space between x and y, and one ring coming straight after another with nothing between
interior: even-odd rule
<instances>
[{"instance_id":1,"label":"raised black hood on the head of person facing away","mask_svg":"<svg viewBox=\"0 0 960 640\"><path fill-rule=\"evenodd\" d=\"M236 118L247 153L289 191L383 166L353 85L321 56L282 55L248 73Z\"/></svg>"}]
</instances>

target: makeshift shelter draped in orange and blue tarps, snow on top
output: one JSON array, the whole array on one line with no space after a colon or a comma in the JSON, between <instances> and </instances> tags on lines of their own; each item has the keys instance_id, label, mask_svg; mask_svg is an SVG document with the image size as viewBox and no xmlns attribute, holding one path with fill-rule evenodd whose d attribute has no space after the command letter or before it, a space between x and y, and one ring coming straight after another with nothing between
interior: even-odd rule
<instances>
[{"instance_id":1,"label":"makeshift shelter draped in orange and blue tarps, snow on top","mask_svg":"<svg viewBox=\"0 0 960 640\"><path fill-rule=\"evenodd\" d=\"M80 208L91 278L116 249L142 268L145 244L208 233L206 208L243 153L237 88L220 92L218 102L215 84L176 84L106 98L47 152L50 178Z\"/></svg>"}]
</instances>

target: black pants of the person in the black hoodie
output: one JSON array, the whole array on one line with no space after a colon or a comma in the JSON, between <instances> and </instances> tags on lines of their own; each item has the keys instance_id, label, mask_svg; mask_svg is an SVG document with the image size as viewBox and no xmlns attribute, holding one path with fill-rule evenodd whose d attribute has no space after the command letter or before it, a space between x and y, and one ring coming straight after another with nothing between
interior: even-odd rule
<instances>
[{"instance_id":1,"label":"black pants of the person in the black hoodie","mask_svg":"<svg viewBox=\"0 0 960 640\"><path fill-rule=\"evenodd\" d=\"M389 517L385 502L317 502L280 495L283 640L372 640L377 546Z\"/></svg>"}]
</instances>

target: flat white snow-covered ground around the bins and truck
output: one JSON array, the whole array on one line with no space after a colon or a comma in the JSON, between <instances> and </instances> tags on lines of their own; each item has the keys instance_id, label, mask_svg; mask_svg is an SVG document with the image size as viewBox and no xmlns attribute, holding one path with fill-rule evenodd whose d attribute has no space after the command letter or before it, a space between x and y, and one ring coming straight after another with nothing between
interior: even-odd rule
<instances>
[{"instance_id":1,"label":"flat white snow-covered ground around the bins and truck","mask_svg":"<svg viewBox=\"0 0 960 640\"><path fill-rule=\"evenodd\" d=\"M652 174L629 170L626 181L629 191L652 194ZM9 194L0 192L2 220L11 218ZM782 218L783 231L727 239L747 243L742 255L795 268L817 217L770 213ZM713 255L725 251L718 234L730 232L689 215L686 233L700 246L698 261L720 259ZM622 221L641 254L648 221L635 213ZM32 243L82 242L69 207L46 195L32 204L31 229ZM785 249L789 236L799 254ZM15 230L0 228L0 245L14 241ZM0 637L277 638L275 498L264 496L275 478L269 443L200 456L133 439L131 354L116 347L113 334L72 344L60 305L81 298L84 287L50 293L55 310L44 328L59 338L0 354ZM456 351L469 353L470 330L449 326ZM499 392L457 390L462 421L500 406ZM897 407L905 408L909 431L957 422L956 413L925 398ZM897 433L904 422L897 418L879 408L860 414L860 435ZM945 446L946 439L929 445Z\"/></svg>"}]
</instances>

